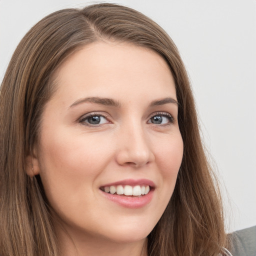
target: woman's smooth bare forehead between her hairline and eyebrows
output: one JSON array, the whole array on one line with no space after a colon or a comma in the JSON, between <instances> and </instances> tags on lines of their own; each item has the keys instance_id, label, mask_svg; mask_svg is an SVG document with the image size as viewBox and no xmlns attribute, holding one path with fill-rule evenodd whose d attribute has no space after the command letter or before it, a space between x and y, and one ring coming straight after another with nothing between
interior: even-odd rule
<instances>
[{"instance_id":1,"label":"woman's smooth bare forehead between her hairline and eyebrows","mask_svg":"<svg viewBox=\"0 0 256 256\"><path fill-rule=\"evenodd\" d=\"M153 50L129 43L86 45L60 65L54 80L57 96L65 94L70 99L98 94L126 98L168 94L176 98L174 80L165 60Z\"/></svg>"}]
</instances>

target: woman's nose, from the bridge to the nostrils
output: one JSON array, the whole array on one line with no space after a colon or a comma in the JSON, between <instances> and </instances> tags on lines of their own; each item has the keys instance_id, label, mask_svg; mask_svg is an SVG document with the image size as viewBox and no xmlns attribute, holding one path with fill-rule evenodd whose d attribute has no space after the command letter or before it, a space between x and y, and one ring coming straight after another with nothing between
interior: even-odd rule
<instances>
[{"instance_id":1,"label":"woman's nose, from the bridge to the nostrils","mask_svg":"<svg viewBox=\"0 0 256 256\"><path fill-rule=\"evenodd\" d=\"M119 165L138 168L154 160L148 134L141 124L125 125L117 139L116 161Z\"/></svg>"}]
</instances>

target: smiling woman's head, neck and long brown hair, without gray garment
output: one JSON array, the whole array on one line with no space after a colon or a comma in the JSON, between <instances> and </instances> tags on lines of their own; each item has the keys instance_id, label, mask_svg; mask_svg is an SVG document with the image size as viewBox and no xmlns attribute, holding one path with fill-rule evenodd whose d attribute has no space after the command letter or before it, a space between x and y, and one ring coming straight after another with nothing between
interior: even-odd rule
<instances>
[{"instance_id":1,"label":"smiling woman's head, neck and long brown hair, without gray garment","mask_svg":"<svg viewBox=\"0 0 256 256\"><path fill-rule=\"evenodd\" d=\"M143 14L54 12L1 85L1 255L224 255L178 51Z\"/></svg>"}]
</instances>

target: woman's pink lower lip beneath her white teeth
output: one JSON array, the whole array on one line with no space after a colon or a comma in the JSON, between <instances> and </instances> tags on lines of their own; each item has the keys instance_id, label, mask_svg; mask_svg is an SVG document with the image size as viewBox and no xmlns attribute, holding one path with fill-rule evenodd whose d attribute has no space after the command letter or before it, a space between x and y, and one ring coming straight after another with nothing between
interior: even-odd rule
<instances>
[{"instance_id":1,"label":"woman's pink lower lip beneath her white teeth","mask_svg":"<svg viewBox=\"0 0 256 256\"><path fill-rule=\"evenodd\" d=\"M151 201L153 197L153 189L150 190L147 194L144 194L141 196L126 196L126 195L110 194L102 190L100 191L103 193L103 195L107 199L123 207L132 208L132 209L144 207Z\"/></svg>"}]
</instances>

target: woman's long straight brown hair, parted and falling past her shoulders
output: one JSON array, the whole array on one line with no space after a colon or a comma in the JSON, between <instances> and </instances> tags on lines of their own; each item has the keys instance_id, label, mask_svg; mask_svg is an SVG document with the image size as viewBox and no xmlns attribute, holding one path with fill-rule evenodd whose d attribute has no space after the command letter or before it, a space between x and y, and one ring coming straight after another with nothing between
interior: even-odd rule
<instances>
[{"instance_id":1,"label":"woman's long straight brown hair, parted and falling past her shoulders","mask_svg":"<svg viewBox=\"0 0 256 256\"><path fill-rule=\"evenodd\" d=\"M162 56L175 80L183 159L171 199L148 235L148 255L217 255L226 245L219 190L205 157L189 80L170 37L148 17L116 4L56 11L13 53L0 93L0 254L58 255L40 177L25 173L52 74L74 50L99 40L130 42Z\"/></svg>"}]
</instances>

